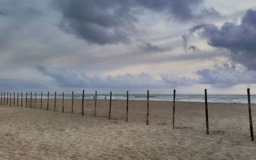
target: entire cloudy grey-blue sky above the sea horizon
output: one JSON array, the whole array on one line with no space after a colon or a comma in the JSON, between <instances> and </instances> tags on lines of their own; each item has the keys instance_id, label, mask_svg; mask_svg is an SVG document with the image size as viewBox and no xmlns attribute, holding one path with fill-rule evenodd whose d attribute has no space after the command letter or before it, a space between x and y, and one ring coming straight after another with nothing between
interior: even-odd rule
<instances>
[{"instance_id":1,"label":"entire cloudy grey-blue sky above the sea horizon","mask_svg":"<svg viewBox=\"0 0 256 160\"><path fill-rule=\"evenodd\" d=\"M256 93L255 0L0 0L0 92Z\"/></svg>"}]
</instances>

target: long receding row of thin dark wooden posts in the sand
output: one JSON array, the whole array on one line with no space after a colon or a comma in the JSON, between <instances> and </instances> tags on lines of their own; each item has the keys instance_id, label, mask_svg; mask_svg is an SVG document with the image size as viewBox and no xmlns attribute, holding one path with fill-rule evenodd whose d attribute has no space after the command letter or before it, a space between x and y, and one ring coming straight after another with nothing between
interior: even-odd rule
<instances>
[{"instance_id":1,"label":"long receding row of thin dark wooden posts in the sand","mask_svg":"<svg viewBox=\"0 0 256 160\"><path fill-rule=\"evenodd\" d=\"M208 102L207 102L207 89L204 90L205 92L205 124L206 124L206 134L209 134L209 118L208 118ZM128 102L129 102L129 92L127 91L127 100L126 100L126 122L128 122ZM1 105L8 105L8 97L10 95L10 106L12 106L12 93L1 93ZM249 122L250 122L250 135L251 140L254 141L253 136L253 124L252 124L252 111L251 111L251 100L250 100L250 88L247 89L248 95L248 111L249 111ZM173 117L172 117L172 125L173 129L175 129L175 96L176 90L173 90ZM5 98L6 97L6 98ZM20 106L23 107L23 97L22 92L20 94L21 104ZM43 99L43 92L41 92L41 109L42 109L42 99ZM109 116L108 118L111 119L111 102L112 102L112 92L110 92L110 99L109 99ZM96 117L96 105L97 105L97 91L95 91L95 106L94 106L94 116ZM13 93L13 106L15 106L15 92ZM19 106L19 93L17 93L17 106ZM72 92L72 113L73 113L73 106L74 106L74 92ZM26 92L26 108L28 107L28 92ZM30 92L30 108L32 108L32 92ZM36 109L36 92L35 92L35 109ZM49 111L49 92L47 92L47 111ZM54 93L54 111L56 111L56 92ZM62 92L62 112L64 113L64 92ZM83 97L82 97L82 115L84 115L84 90L83 90ZM149 116L149 91L147 90L147 125Z\"/></svg>"}]
</instances>

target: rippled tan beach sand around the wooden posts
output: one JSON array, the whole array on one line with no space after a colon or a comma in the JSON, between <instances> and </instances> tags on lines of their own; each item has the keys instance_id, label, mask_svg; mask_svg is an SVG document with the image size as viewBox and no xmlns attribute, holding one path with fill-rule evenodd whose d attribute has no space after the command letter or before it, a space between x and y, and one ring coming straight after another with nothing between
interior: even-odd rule
<instances>
[{"instance_id":1,"label":"rippled tan beach sand around the wooden posts","mask_svg":"<svg viewBox=\"0 0 256 160\"><path fill-rule=\"evenodd\" d=\"M172 129L172 102L129 101L125 122L125 100L113 100L111 120L109 100L54 102L40 100L35 109L0 107L0 159L256 159L256 142L250 139L246 104L209 103L210 134L205 134L204 103L177 102L175 129ZM25 105L24 105L25 106ZM253 124L256 108L252 105Z\"/></svg>"}]
</instances>

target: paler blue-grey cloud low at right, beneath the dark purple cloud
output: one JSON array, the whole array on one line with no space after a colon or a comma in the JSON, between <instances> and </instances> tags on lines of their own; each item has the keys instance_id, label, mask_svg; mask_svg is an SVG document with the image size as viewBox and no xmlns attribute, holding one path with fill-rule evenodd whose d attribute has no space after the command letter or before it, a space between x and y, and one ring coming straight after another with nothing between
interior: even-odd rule
<instances>
[{"instance_id":1,"label":"paler blue-grey cloud low at right, beneath the dark purple cloud","mask_svg":"<svg viewBox=\"0 0 256 160\"><path fill-rule=\"evenodd\" d=\"M228 88L236 84L256 83L256 72L223 64L214 68L198 70L198 83L212 84L220 88Z\"/></svg>"}]
</instances>

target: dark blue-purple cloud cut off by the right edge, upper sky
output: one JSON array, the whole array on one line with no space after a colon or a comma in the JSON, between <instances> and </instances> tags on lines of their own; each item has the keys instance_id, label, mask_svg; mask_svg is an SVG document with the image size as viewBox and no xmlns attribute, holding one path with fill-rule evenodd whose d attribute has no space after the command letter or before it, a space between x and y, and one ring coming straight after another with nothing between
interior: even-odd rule
<instances>
[{"instance_id":1,"label":"dark blue-purple cloud cut off by the right edge, upper sky","mask_svg":"<svg viewBox=\"0 0 256 160\"><path fill-rule=\"evenodd\" d=\"M231 51L230 58L241 63L249 70L256 70L256 12L247 10L237 25L225 22L221 28L214 24L200 24L191 29L191 33L208 38L212 47L225 48Z\"/></svg>"}]
</instances>

